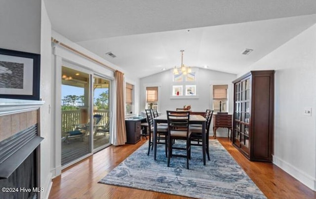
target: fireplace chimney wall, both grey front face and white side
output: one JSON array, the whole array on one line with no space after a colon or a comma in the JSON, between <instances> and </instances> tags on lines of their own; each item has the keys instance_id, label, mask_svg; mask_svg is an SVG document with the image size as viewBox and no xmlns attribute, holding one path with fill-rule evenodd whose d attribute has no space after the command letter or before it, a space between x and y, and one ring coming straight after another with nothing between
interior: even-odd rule
<instances>
[{"instance_id":1,"label":"fireplace chimney wall, both grey front face and white side","mask_svg":"<svg viewBox=\"0 0 316 199\"><path fill-rule=\"evenodd\" d=\"M41 198L50 189L50 22L41 0L2 0L0 6L0 48L40 54L40 187Z\"/></svg>"}]
</instances>

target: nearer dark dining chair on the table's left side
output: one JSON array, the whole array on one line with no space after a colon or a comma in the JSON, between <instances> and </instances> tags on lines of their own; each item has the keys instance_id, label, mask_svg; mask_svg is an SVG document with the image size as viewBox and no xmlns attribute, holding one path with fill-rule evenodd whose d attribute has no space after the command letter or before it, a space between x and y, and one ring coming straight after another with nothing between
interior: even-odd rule
<instances>
[{"instance_id":1,"label":"nearer dark dining chair on the table's left side","mask_svg":"<svg viewBox=\"0 0 316 199\"><path fill-rule=\"evenodd\" d=\"M152 133L154 135L154 118L151 109L145 109L146 119L148 123L148 131L149 131L149 139L148 139L148 153L150 153L150 147L154 147L154 138L152 138ZM167 157L167 134L168 134L168 126L167 125L157 125L157 144L164 144L165 145L165 153ZM164 142L161 142L164 140Z\"/></svg>"}]
</instances>

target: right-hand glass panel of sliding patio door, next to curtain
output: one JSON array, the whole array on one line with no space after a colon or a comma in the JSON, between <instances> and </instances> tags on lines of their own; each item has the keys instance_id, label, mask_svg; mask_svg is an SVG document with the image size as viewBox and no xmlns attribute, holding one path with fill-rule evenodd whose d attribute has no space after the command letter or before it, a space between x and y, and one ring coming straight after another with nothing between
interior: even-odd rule
<instances>
[{"instance_id":1,"label":"right-hand glass panel of sliding patio door, next to curtain","mask_svg":"<svg viewBox=\"0 0 316 199\"><path fill-rule=\"evenodd\" d=\"M93 79L93 151L110 145L110 85L111 80Z\"/></svg>"}]
</instances>

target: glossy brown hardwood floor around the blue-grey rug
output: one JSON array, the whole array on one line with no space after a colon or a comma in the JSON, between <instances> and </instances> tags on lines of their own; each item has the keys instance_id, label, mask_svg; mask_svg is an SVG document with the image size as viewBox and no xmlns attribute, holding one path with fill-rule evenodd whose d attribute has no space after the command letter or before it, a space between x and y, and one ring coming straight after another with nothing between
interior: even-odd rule
<instances>
[{"instance_id":1,"label":"glossy brown hardwood floor around the blue-grey rug","mask_svg":"<svg viewBox=\"0 0 316 199\"><path fill-rule=\"evenodd\" d=\"M267 162L251 162L224 137L217 137L226 150L269 199L315 199L312 191L279 167ZM64 169L53 179L49 199L188 199L151 191L99 184L108 172L146 142L110 146L76 165ZM210 152L212 153L212 152ZM144 173L145 175L145 173Z\"/></svg>"}]
</instances>

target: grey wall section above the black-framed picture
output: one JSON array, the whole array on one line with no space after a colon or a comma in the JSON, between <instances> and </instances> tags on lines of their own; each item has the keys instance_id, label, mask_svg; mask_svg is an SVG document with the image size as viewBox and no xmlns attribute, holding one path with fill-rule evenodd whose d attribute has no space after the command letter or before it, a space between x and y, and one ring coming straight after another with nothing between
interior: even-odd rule
<instances>
[{"instance_id":1,"label":"grey wall section above the black-framed picture","mask_svg":"<svg viewBox=\"0 0 316 199\"><path fill-rule=\"evenodd\" d=\"M40 0L0 4L0 48L40 54Z\"/></svg>"}]
</instances>

